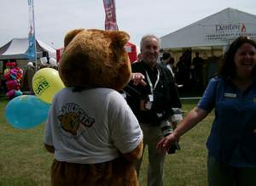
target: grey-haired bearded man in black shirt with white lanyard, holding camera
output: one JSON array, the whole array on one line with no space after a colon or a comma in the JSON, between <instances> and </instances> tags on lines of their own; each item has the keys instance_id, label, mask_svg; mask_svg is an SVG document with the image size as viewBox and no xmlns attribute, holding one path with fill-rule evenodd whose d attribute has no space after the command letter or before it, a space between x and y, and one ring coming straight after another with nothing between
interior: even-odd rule
<instances>
[{"instance_id":1,"label":"grey-haired bearded man in black shirt with white lanyard, holding camera","mask_svg":"<svg viewBox=\"0 0 256 186\"><path fill-rule=\"evenodd\" d=\"M144 148L148 146L148 185L163 185L163 166L166 153L155 149L163 138L161 123L170 125L172 107L181 107L172 74L157 63L160 39L146 35L141 40L142 60L131 65L131 82L125 87L126 100L143 129ZM143 159L137 162L137 175Z\"/></svg>"}]
</instances>

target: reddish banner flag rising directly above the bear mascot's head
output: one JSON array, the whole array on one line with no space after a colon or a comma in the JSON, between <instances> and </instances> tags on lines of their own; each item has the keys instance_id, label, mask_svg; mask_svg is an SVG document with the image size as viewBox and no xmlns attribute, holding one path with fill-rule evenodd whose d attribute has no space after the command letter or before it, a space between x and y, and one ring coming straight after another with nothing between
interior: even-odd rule
<instances>
[{"instance_id":1,"label":"reddish banner flag rising directly above the bear mascot's head","mask_svg":"<svg viewBox=\"0 0 256 186\"><path fill-rule=\"evenodd\" d=\"M103 0L104 8L105 8L105 30L106 31L118 31L118 25L116 23L115 16L115 0Z\"/></svg>"}]
</instances>

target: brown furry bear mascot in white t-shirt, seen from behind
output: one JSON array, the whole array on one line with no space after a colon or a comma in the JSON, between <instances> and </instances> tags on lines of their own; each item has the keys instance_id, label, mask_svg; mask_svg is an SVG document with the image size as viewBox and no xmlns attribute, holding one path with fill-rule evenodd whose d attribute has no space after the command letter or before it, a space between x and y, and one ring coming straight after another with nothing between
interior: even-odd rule
<instances>
[{"instance_id":1,"label":"brown furry bear mascot in white t-shirt, seen from behind","mask_svg":"<svg viewBox=\"0 0 256 186\"><path fill-rule=\"evenodd\" d=\"M78 29L64 40L65 84L49 110L44 145L55 154L51 185L138 185L143 132L118 92L131 78L124 31Z\"/></svg>"}]
</instances>

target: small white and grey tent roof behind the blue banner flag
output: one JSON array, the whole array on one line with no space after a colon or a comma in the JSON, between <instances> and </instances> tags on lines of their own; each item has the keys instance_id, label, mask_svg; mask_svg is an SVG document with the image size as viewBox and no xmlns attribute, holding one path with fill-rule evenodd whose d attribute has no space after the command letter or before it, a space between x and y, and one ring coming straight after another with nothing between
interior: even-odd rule
<instances>
[{"instance_id":1,"label":"small white and grey tent roof behind the blue banner flag","mask_svg":"<svg viewBox=\"0 0 256 186\"><path fill-rule=\"evenodd\" d=\"M37 53L48 52L50 58L56 58L56 51L49 45L36 40ZM0 59L27 59L28 38L14 38L0 48Z\"/></svg>"}]
</instances>

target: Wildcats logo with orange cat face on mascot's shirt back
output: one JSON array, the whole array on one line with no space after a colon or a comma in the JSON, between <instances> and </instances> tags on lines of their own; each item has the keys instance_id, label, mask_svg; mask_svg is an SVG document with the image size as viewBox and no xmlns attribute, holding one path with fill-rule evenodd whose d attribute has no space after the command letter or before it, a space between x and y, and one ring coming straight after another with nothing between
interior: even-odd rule
<instances>
[{"instance_id":1,"label":"Wildcats logo with orange cat face on mascot's shirt back","mask_svg":"<svg viewBox=\"0 0 256 186\"><path fill-rule=\"evenodd\" d=\"M80 127L91 127L95 123L94 118L87 116L84 110L74 103L64 104L59 111L58 119L61 128L73 135L77 135Z\"/></svg>"}]
</instances>

